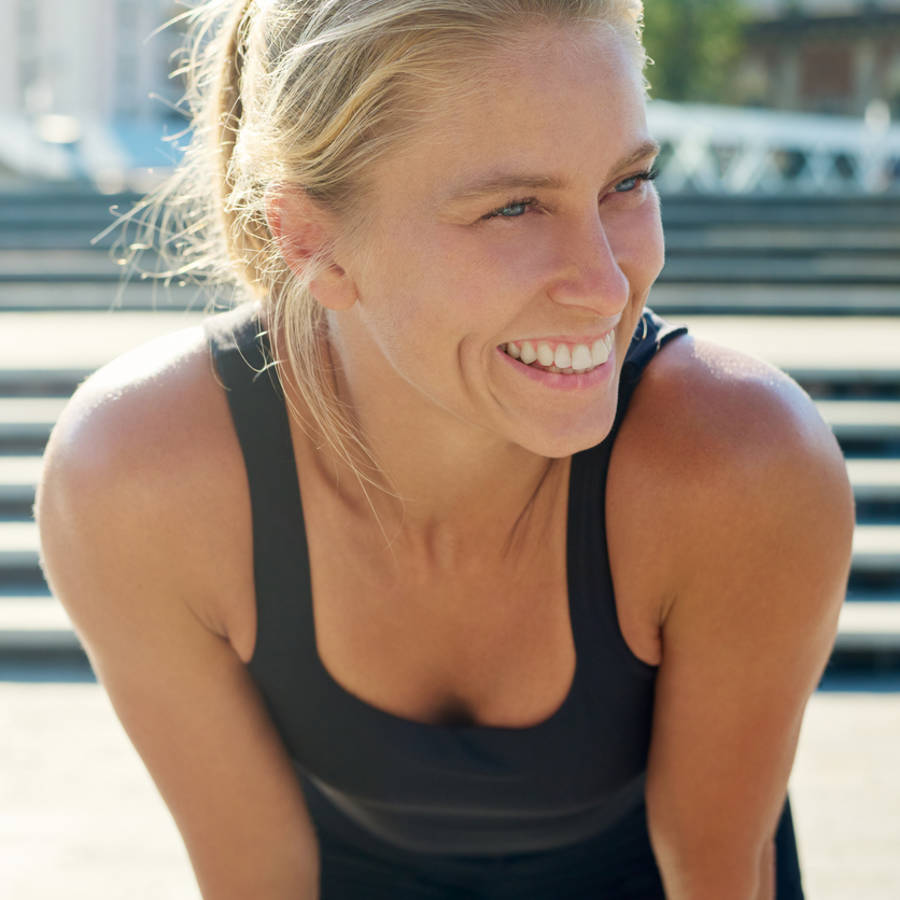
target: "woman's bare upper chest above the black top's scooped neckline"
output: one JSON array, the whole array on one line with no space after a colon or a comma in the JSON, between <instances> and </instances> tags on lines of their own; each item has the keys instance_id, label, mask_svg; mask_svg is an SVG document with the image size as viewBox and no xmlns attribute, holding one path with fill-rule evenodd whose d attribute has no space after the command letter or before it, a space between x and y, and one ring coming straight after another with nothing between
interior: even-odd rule
<instances>
[{"instance_id":1,"label":"woman's bare upper chest above the black top's scooped neckline","mask_svg":"<svg viewBox=\"0 0 900 900\"><path fill-rule=\"evenodd\" d=\"M431 724L524 726L562 704L576 659L564 528L508 561L438 568L336 541L314 515L307 531L316 651L346 691Z\"/></svg>"}]
</instances>

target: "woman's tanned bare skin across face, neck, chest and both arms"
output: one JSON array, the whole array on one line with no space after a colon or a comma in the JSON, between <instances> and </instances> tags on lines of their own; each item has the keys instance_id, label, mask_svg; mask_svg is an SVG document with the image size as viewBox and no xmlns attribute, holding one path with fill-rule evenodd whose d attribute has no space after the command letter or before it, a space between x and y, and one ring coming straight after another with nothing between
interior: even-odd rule
<instances>
[{"instance_id":1,"label":"woman's tanned bare skin across face, neck, chest and both arms","mask_svg":"<svg viewBox=\"0 0 900 900\"><path fill-rule=\"evenodd\" d=\"M482 88L428 98L355 221L298 191L269 210L290 265L331 248L311 287L389 488L364 492L292 421L318 653L348 691L417 722L527 727L568 694L570 458L609 433L663 263L656 147L621 39L515 38L479 62ZM611 331L608 361L583 374L502 349ZM245 667L250 497L202 332L79 390L38 514L54 592L204 897L314 900L315 833ZM786 376L678 339L635 392L596 515L622 635L659 666L647 810L666 894L771 900L772 835L849 567L840 453Z\"/></svg>"}]
</instances>

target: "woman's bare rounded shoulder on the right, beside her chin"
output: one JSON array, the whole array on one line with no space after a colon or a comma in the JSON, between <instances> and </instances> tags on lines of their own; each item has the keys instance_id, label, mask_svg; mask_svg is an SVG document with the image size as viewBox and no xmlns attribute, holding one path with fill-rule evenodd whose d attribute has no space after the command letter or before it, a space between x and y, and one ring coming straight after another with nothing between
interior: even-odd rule
<instances>
[{"instance_id":1,"label":"woman's bare rounded shoulder on the right, beside her chin","mask_svg":"<svg viewBox=\"0 0 900 900\"><path fill-rule=\"evenodd\" d=\"M646 576L656 582L642 587L663 602L710 576L717 556L786 570L791 559L818 560L835 584L846 575L852 493L814 403L768 364L690 337L646 370L616 445L609 504L622 547L657 538L659 564ZM813 596L835 603L833 589Z\"/></svg>"}]
</instances>

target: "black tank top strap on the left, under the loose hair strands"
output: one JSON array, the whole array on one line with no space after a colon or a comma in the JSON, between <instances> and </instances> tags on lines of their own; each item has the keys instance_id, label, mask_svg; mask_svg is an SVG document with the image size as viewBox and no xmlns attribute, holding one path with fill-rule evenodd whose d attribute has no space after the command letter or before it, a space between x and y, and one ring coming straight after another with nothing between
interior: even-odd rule
<instances>
[{"instance_id":1,"label":"black tank top strap on the left, under the loose hair strands","mask_svg":"<svg viewBox=\"0 0 900 900\"><path fill-rule=\"evenodd\" d=\"M269 656L268 648L290 635L295 651L300 647L314 651L300 485L284 394L259 307L244 304L213 316L204 329L228 398L250 488L256 649L267 648ZM309 653L306 656L311 658ZM265 664L271 667L274 661L268 658ZM255 663L256 653L251 671Z\"/></svg>"}]
</instances>

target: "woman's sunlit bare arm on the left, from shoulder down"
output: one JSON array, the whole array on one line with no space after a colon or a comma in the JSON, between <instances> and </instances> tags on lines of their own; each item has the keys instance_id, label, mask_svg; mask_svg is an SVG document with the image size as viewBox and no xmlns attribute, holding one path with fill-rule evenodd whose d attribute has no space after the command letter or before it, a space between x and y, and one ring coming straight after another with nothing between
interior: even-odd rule
<instances>
[{"instance_id":1,"label":"woman's sunlit bare arm on the left, from shoulder down","mask_svg":"<svg viewBox=\"0 0 900 900\"><path fill-rule=\"evenodd\" d=\"M315 839L292 765L245 665L197 612L221 568L203 558L200 532L215 527L216 501L185 474L179 445L201 436L173 438L196 426L162 390L89 384L64 414L38 495L45 572L204 897L314 897Z\"/></svg>"}]
</instances>

